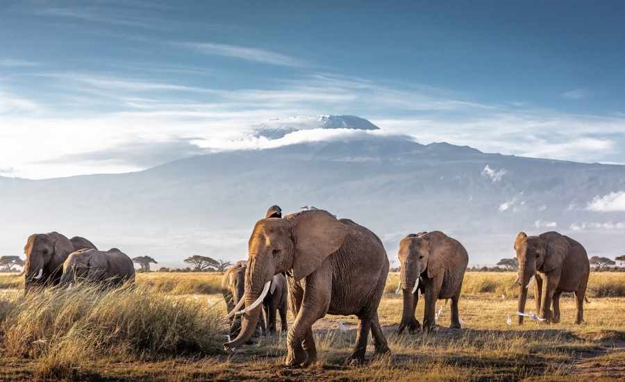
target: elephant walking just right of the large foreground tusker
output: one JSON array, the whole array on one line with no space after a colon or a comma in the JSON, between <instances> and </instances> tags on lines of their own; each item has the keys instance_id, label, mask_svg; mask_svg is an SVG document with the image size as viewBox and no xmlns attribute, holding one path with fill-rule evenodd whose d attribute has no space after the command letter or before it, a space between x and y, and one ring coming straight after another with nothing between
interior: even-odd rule
<instances>
[{"instance_id":1,"label":"elephant walking just right of the large foreground tusker","mask_svg":"<svg viewBox=\"0 0 625 382\"><path fill-rule=\"evenodd\" d=\"M425 298L424 330L435 326L437 299L451 299L451 329L460 329L458 299L469 263L465 247L440 231L411 233L399 243L398 256L403 313L397 333L406 326L408 333L421 329L415 318L419 290Z\"/></svg>"}]
</instances>

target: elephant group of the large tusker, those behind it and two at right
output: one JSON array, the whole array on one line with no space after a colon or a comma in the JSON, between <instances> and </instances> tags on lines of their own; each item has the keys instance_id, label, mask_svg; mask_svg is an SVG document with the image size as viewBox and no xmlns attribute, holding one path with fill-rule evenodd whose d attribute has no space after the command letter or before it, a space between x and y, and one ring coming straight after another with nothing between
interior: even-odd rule
<instances>
[{"instance_id":1,"label":"elephant group of the large tusker, those behind it and two at right","mask_svg":"<svg viewBox=\"0 0 625 382\"><path fill-rule=\"evenodd\" d=\"M523 323L527 288L535 279L540 321L560 321L560 294L574 292L576 324L583 322L583 302L590 264L581 244L557 232L519 233L514 248L519 260L519 324ZM458 300L469 263L465 247L440 231L410 233L399 243L403 313L397 333L428 331L435 326L435 304L451 299L451 328L460 329ZM285 301L295 319L288 330L285 365L306 367L317 358L313 324L326 314L356 315L356 346L349 360L365 360L372 333L376 354L389 352L378 318L389 262L375 233L325 210L282 216L278 206L254 226L248 258L228 269L222 292L231 331L225 349L235 349L260 333L274 333L276 310L286 326ZM423 324L415 317L419 292L425 300ZM553 306L553 312L551 307ZM262 315L261 315L262 313ZM235 338L231 338L235 336Z\"/></svg>"}]
</instances>

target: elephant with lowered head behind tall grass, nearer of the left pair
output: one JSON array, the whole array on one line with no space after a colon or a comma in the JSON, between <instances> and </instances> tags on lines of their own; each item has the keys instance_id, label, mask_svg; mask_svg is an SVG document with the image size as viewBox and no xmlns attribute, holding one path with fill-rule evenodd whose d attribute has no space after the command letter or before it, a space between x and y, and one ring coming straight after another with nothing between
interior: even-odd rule
<instances>
[{"instance_id":1,"label":"elephant with lowered head behind tall grass, nearer of the left pair","mask_svg":"<svg viewBox=\"0 0 625 382\"><path fill-rule=\"evenodd\" d=\"M97 249L75 251L63 263L60 285L71 287L78 281L102 283L110 287L135 281L133 260L117 248L106 252Z\"/></svg>"}]
</instances>

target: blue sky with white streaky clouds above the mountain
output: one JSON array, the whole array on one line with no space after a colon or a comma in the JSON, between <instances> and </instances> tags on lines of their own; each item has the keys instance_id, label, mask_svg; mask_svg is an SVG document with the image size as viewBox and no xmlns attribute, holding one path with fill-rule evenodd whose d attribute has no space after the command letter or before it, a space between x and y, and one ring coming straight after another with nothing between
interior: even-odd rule
<instances>
[{"instance_id":1,"label":"blue sky with white streaky clouds above the mountain","mask_svg":"<svg viewBox=\"0 0 625 382\"><path fill-rule=\"evenodd\" d=\"M622 1L0 1L0 176L262 149L253 126L328 114L625 163L624 19Z\"/></svg>"}]
</instances>

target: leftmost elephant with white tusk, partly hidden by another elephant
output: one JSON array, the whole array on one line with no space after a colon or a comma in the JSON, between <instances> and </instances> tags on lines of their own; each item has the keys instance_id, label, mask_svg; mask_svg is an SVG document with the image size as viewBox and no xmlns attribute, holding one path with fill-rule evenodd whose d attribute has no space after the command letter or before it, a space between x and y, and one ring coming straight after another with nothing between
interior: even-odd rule
<instances>
[{"instance_id":1,"label":"leftmost elephant with white tusk, partly hidden by another elephant","mask_svg":"<svg viewBox=\"0 0 625 382\"><path fill-rule=\"evenodd\" d=\"M76 247L74 247L76 245ZM24 287L26 292L37 285L57 285L63 274L63 263L76 249L96 247L89 240L71 240L58 232L35 233L28 237L24 254Z\"/></svg>"}]
</instances>

